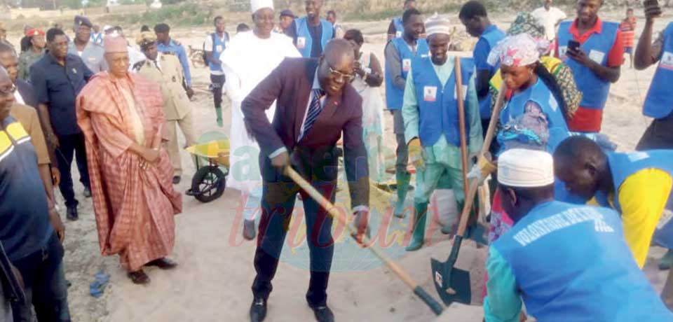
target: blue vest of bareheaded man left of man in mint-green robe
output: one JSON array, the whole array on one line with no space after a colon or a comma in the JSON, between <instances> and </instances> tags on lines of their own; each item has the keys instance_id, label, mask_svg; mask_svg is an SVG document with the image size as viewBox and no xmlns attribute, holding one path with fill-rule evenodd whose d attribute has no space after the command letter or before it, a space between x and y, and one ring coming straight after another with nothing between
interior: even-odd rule
<instances>
[{"instance_id":1,"label":"blue vest of bareheaded man left of man in mint-green robe","mask_svg":"<svg viewBox=\"0 0 673 322\"><path fill-rule=\"evenodd\" d=\"M416 41L416 55L409 49L409 45L405 38L395 38L390 41L391 45L395 46L397 52L400 53L400 62L402 62L402 78L407 79L407 73L412 66L412 60L416 57L428 56L430 48L425 39ZM386 69L386 105L389 110L402 109L402 102L404 101L405 90L400 90L393 85L393 76L390 76L388 69Z\"/></svg>"}]
</instances>

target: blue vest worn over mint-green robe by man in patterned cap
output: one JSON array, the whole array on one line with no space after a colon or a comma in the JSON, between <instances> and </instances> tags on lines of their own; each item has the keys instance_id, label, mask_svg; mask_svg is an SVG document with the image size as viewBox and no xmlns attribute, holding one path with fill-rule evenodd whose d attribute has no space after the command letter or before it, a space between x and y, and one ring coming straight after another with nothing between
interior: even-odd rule
<instances>
[{"instance_id":1,"label":"blue vest worn over mint-green robe by man in patterned cap","mask_svg":"<svg viewBox=\"0 0 673 322\"><path fill-rule=\"evenodd\" d=\"M450 58L449 58L450 59ZM472 59L461 58L463 76L463 99L466 98L470 78L475 71ZM433 67L430 57L419 57L412 61L412 73L416 86L416 99L419 102L419 137L421 145L433 146L441 135L449 144L461 145L460 125L458 123L458 99L456 98L456 71L442 87L440 79ZM465 101L467 106L467 101ZM467 120L467 113L465 113ZM470 133L470 127L465 122L465 132Z\"/></svg>"}]
</instances>

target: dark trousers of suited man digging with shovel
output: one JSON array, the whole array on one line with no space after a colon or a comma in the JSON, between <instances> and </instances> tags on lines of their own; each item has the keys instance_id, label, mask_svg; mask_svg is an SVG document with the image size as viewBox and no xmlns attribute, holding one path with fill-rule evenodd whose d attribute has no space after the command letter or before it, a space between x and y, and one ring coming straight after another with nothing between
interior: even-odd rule
<instances>
[{"instance_id":1,"label":"dark trousers of suited man digging with shovel","mask_svg":"<svg viewBox=\"0 0 673 322\"><path fill-rule=\"evenodd\" d=\"M334 202L336 181L312 181L311 185ZM289 178L264 182L257 251L254 254L254 269L257 276L252 283L252 293L255 297L266 299L273 290L271 280L276 275L278 259L283 250L297 193L301 193L304 202L306 239L311 260L311 280L308 282L306 301L310 307L321 307L327 304L327 283L334 254L332 219L327 216L325 209L306 195L304 190L300 191L297 184Z\"/></svg>"}]
</instances>

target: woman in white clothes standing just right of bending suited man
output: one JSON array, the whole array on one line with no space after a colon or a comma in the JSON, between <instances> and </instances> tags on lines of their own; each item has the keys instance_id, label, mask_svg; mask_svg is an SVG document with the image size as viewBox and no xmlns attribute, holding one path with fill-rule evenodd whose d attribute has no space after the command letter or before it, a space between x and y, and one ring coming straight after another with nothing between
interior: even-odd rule
<instances>
[{"instance_id":1,"label":"woman in white clothes standing just right of bending suited man","mask_svg":"<svg viewBox=\"0 0 673 322\"><path fill-rule=\"evenodd\" d=\"M365 38L358 29L350 29L344 39L355 51L355 78L351 85L362 96L362 137L367 146L369 178L376 183L386 181L386 158L383 154L383 104L379 87L383 83L381 63L373 52L362 50Z\"/></svg>"}]
</instances>

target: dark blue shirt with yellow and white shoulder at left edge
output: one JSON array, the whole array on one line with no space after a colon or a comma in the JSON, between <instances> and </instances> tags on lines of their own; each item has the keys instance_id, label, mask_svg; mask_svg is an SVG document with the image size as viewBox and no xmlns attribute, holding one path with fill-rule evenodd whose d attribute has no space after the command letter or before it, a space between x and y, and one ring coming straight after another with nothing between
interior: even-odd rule
<instances>
[{"instance_id":1,"label":"dark blue shirt with yellow and white shoulder at left edge","mask_svg":"<svg viewBox=\"0 0 673 322\"><path fill-rule=\"evenodd\" d=\"M0 200L0 242L9 259L44 247L54 233L47 194L30 137L11 116L0 121Z\"/></svg>"}]
</instances>

